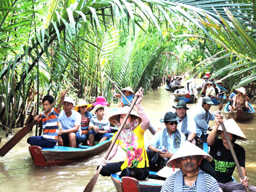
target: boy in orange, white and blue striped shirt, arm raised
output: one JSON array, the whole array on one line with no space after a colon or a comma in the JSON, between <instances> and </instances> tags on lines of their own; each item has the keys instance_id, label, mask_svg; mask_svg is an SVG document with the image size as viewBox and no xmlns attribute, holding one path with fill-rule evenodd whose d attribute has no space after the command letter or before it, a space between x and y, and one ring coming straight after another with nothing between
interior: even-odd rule
<instances>
[{"instance_id":1,"label":"boy in orange, white and blue striped shirt, arm raised","mask_svg":"<svg viewBox=\"0 0 256 192\"><path fill-rule=\"evenodd\" d=\"M59 115L61 106L64 103L65 94L66 91L61 92L61 99L56 108L52 107L46 114L42 112L42 118L39 118L39 115L35 116L34 120L38 122L42 121L43 135L28 137L28 144L45 148L53 148L56 145L59 131ZM46 110L53 102L54 98L51 95L46 95L42 101L44 110Z\"/></svg>"}]
</instances>

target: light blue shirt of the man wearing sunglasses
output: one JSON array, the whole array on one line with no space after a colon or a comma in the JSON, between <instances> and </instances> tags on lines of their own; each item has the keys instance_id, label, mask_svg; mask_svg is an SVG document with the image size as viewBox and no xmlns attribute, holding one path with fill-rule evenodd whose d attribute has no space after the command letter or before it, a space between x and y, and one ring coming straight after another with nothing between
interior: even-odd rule
<instances>
[{"instance_id":1,"label":"light blue shirt of the man wearing sunglasses","mask_svg":"<svg viewBox=\"0 0 256 192\"><path fill-rule=\"evenodd\" d=\"M157 149L162 149L162 146L163 146L163 139L162 139L163 131L164 131L164 129L156 132L154 137L151 139L151 142L148 144L148 146L152 145ZM168 152L169 153L175 153L177 151L177 148L174 147L174 134L172 134L171 137L170 137L170 135L166 131L166 136L168 138L168 141L170 141L170 142L168 142ZM180 132L180 136L181 136L180 144L183 144L183 142L186 140L186 137L182 132Z\"/></svg>"}]
</instances>

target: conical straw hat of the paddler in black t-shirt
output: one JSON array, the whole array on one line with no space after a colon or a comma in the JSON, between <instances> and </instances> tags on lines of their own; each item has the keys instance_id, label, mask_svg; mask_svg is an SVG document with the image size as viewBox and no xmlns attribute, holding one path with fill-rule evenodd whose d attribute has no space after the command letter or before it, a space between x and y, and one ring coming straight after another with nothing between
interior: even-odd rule
<instances>
[{"instance_id":1,"label":"conical straw hat of the paddler in black t-shirt","mask_svg":"<svg viewBox=\"0 0 256 192\"><path fill-rule=\"evenodd\" d=\"M243 134L241 128L238 126L236 121L234 119L228 119L224 123L224 126L226 128L226 132L232 133L233 135L237 135L240 140L246 140L245 134ZM218 130L222 131L222 127L219 126Z\"/></svg>"}]
</instances>

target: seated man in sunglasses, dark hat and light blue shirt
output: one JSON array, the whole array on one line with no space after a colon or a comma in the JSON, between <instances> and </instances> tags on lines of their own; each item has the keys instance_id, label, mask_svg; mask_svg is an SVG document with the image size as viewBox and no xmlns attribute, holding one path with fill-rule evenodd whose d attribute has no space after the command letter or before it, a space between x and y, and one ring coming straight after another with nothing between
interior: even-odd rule
<instances>
[{"instance_id":1,"label":"seated man in sunglasses, dark hat and light blue shirt","mask_svg":"<svg viewBox=\"0 0 256 192\"><path fill-rule=\"evenodd\" d=\"M185 135L177 130L179 120L180 118L173 112L167 112L164 118L160 119L166 128L156 132L148 144L147 156L150 161L150 170L156 172L166 166L167 161L185 141ZM158 162L154 161L154 156L160 156Z\"/></svg>"}]
</instances>

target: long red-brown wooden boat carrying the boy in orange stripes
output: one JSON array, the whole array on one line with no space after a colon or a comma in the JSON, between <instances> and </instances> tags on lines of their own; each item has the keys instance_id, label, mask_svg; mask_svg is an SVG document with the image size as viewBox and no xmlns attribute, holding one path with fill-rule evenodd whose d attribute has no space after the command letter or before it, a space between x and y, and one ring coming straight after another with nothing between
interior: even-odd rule
<instances>
[{"instance_id":1,"label":"long red-brown wooden boat carrying the boy in orange stripes","mask_svg":"<svg viewBox=\"0 0 256 192\"><path fill-rule=\"evenodd\" d=\"M37 166L67 165L104 151L110 146L113 135L114 133L110 133L110 139L93 147L79 145L79 147L73 148L56 145L54 148L41 148L32 145L28 147L28 150L34 164Z\"/></svg>"}]
</instances>

